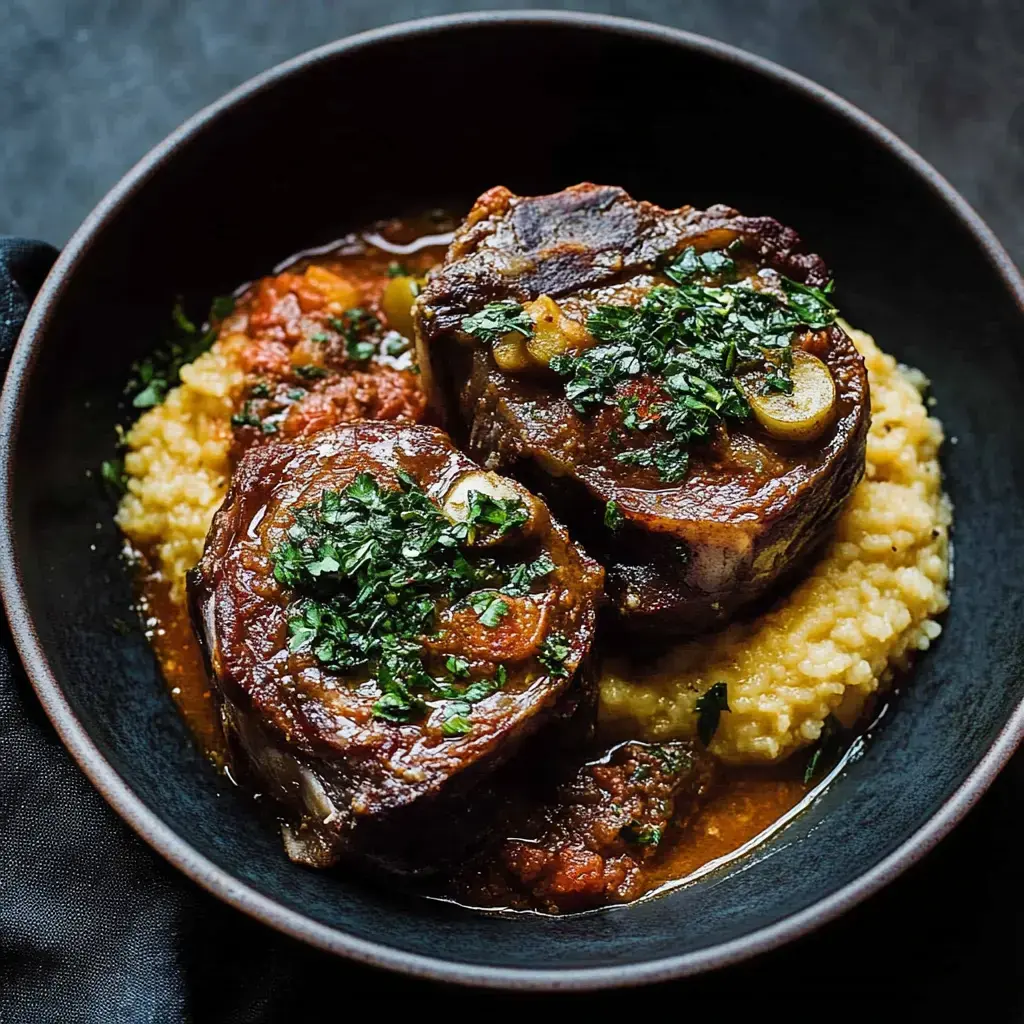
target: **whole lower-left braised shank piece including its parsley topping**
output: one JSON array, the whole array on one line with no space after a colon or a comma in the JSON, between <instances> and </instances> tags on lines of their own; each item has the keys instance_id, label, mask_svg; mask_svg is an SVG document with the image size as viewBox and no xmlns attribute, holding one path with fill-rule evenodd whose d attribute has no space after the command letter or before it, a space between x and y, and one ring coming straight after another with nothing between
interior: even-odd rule
<instances>
[{"instance_id":1,"label":"whole lower-left braised shank piece including its parsley topping","mask_svg":"<svg viewBox=\"0 0 1024 1024\"><path fill-rule=\"evenodd\" d=\"M574 710L600 588L528 492L438 430L383 423L249 452L189 578L226 730L286 806L290 856L402 871L472 834L421 815L465 824L461 796Z\"/></svg>"}]
</instances>

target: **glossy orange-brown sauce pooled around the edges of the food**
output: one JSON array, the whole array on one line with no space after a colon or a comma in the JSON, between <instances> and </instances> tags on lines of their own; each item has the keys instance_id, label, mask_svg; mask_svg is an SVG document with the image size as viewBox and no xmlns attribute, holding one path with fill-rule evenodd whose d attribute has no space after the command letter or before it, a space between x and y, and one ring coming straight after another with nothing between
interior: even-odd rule
<instances>
[{"instance_id":1,"label":"glossy orange-brown sauce pooled around the edges of the food","mask_svg":"<svg viewBox=\"0 0 1024 1024\"><path fill-rule=\"evenodd\" d=\"M358 287L365 308L381 316L380 300L388 281L388 264L400 261L411 273L422 274L443 255L440 244L417 247L417 239L435 242L446 225L442 221L393 221L377 228L374 241L345 240L324 253L304 254L279 271L302 271L311 263L327 267ZM424 237L428 238L424 238ZM398 250L397 252L391 251ZM402 250L412 250L406 252ZM272 279L243 294L258 297L272 288ZM255 440L255 438L253 438ZM248 446L248 445L244 445ZM226 746L219 715L193 634L186 610L171 601L166 581L143 574L140 611L171 694L198 742L221 769ZM806 796L803 762L775 769L720 769L712 791L687 826L663 842L656 857L644 862L641 889L652 891L678 883L722 858L727 858L784 817Z\"/></svg>"}]
</instances>

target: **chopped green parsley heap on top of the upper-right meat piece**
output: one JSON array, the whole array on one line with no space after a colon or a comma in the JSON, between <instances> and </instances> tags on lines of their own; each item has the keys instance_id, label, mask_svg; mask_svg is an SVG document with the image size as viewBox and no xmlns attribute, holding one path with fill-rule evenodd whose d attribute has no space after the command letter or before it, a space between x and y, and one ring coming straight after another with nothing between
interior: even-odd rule
<instances>
[{"instance_id":1,"label":"chopped green parsley heap on top of the upper-right meat piece","mask_svg":"<svg viewBox=\"0 0 1024 1024\"><path fill-rule=\"evenodd\" d=\"M587 321L597 344L551 359L578 413L617 404L627 431L659 428L657 440L620 452L618 462L678 482L689 469L691 444L751 416L737 374L764 371L766 389L792 391L794 336L835 322L830 283L816 289L778 276L783 301L750 281L733 282L735 269L726 252L686 249L665 267L674 284L653 288L635 306L597 306ZM720 283L699 283L708 276ZM621 384L639 377L653 379L660 392L643 416L635 395L615 398Z\"/></svg>"}]
</instances>

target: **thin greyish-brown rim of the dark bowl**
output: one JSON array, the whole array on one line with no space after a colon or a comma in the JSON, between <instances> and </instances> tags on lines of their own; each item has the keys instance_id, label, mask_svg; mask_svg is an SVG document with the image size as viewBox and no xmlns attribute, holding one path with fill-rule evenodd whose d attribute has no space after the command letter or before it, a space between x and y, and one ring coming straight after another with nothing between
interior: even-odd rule
<instances>
[{"instance_id":1,"label":"thin greyish-brown rim of the dark bowl","mask_svg":"<svg viewBox=\"0 0 1024 1024\"><path fill-rule=\"evenodd\" d=\"M534 991L592 990L681 978L737 963L773 949L838 918L866 899L931 850L988 787L1024 738L1024 699L1018 702L988 751L939 810L888 856L842 889L803 910L736 939L702 949L637 964L598 968L523 969L487 967L406 952L348 935L289 909L238 881L195 850L132 791L92 741L63 695L29 612L14 545L11 485L13 453L32 369L67 282L88 255L95 237L118 208L197 132L239 103L306 68L340 54L394 40L413 41L451 29L502 24L561 27L668 43L772 79L838 115L870 136L944 201L980 245L1024 313L1024 279L992 230L952 185L888 128L836 93L773 61L717 40L633 18L582 12L527 10L447 14L385 26L308 50L265 71L202 109L152 148L106 194L65 246L29 312L0 395L0 594L29 679L65 746L115 811L194 882L251 918L321 949L379 968L434 981Z\"/></svg>"}]
</instances>

